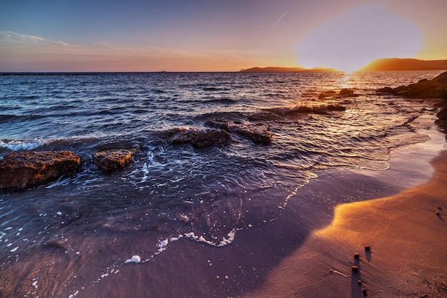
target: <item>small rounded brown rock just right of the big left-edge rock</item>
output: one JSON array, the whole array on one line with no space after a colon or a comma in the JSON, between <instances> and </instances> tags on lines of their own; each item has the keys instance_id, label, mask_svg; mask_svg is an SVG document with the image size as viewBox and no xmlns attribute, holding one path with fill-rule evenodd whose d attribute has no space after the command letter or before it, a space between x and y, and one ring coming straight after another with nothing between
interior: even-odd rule
<instances>
[{"instance_id":1,"label":"small rounded brown rock just right of the big left-edge rock","mask_svg":"<svg viewBox=\"0 0 447 298\"><path fill-rule=\"evenodd\" d=\"M121 170L129 165L136 149L110 149L96 152L93 155L93 162L103 170L103 172L113 172Z\"/></svg>"}]
</instances>

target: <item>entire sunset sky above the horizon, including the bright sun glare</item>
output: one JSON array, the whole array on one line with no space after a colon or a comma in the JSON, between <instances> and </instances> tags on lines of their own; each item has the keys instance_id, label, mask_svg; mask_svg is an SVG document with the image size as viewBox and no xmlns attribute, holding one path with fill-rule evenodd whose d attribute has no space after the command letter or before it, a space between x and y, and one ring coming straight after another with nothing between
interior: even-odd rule
<instances>
[{"instance_id":1,"label":"entire sunset sky above the horizon, including the bright sun glare","mask_svg":"<svg viewBox=\"0 0 447 298\"><path fill-rule=\"evenodd\" d=\"M446 0L2 0L0 72L355 71L447 59Z\"/></svg>"}]
</instances>

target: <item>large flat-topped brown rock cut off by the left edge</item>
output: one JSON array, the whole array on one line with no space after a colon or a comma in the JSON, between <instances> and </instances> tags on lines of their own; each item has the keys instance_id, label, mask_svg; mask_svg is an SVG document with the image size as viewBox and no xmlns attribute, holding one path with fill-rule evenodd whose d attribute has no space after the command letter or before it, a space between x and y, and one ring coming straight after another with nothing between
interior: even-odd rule
<instances>
[{"instance_id":1,"label":"large flat-topped brown rock cut off by the left edge","mask_svg":"<svg viewBox=\"0 0 447 298\"><path fill-rule=\"evenodd\" d=\"M80 164L81 158L70 151L11 153L0 160L0 188L41 185L74 172Z\"/></svg>"}]
</instances>

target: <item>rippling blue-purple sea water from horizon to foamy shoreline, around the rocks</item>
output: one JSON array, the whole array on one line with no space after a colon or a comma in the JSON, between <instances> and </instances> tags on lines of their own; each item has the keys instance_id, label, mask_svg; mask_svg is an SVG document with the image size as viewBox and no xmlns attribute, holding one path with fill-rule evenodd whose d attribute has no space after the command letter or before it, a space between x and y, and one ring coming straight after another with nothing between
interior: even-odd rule
<instances>
[{"instance_id":1,"label":"rippling blue-purple sea water from horizon to foamy shoreline, around the rocks","mask_svg":"<svg viewBox=\"0 0 447 298\"><path fill-rule=\"evenodd\" d=\"M281 217L287 202L327 170L387 170L393 148L428 140L411 121L434 112L376 90L439 73L0 76L0 158L71 150L82 161L78 173L54 183L0 193L0 270L9 276L0 293L82 292L133 255L150 262L180 238L231 245L239 230ZM357 96L319 98L342 88ZM346 111L280 113L329 104ZM234 132L224 146L169 142L173 128L202 130L219 118L244 125L262 111L278 113L261 121L273 133L270 145ZM133 147L139 147L133 163L116 173L102 173L92 162L98 150ZM109 253L99 258L104 250ZM55 272L57 281L45 279Z\"/></svg>"}]
</instances>

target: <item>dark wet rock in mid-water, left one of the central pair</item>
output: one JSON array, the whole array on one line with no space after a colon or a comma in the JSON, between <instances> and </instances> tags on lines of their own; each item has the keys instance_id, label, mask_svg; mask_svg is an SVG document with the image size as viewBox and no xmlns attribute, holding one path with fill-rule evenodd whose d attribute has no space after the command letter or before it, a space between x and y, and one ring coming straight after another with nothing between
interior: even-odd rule
<instances>
[{"instance_id":1,"label":"dark wet rock in mid-water, left one of the central pair","mask_svg":"<svg viewBox=\"0 0 447 298\"><path fill-rule=\"evenodd\" d=\"M221 146L230 143L231 135L226 130L197 130L194 128L177 128L171 138L174 145L191 143L195 148Z\"/></svg>"}]
</instances>

